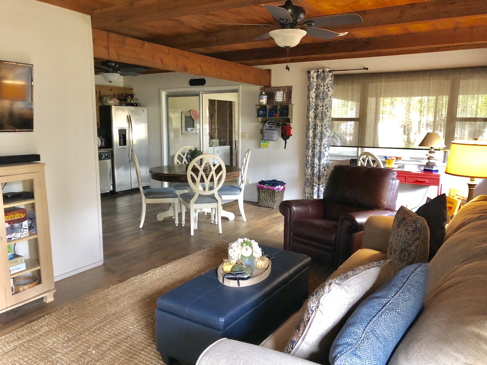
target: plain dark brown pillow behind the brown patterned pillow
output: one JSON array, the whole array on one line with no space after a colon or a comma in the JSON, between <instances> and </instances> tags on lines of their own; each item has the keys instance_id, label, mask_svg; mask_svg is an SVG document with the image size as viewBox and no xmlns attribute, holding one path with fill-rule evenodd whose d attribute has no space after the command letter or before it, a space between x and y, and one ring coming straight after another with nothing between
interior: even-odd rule
<instances>
[{"instance_id":1,"label":"plain dark brown pillow behind the brown patterned pillow","mask_svg":"<svg viewBox=\"0 0 487 365\"><path fill-rule=\"evenodd\" d=\"M428 261L436 255L445 240L448 221L447 195L441 194L421 205L416 214L426 219L430 229L430 254Z\"/></svg>"}]
</instances>

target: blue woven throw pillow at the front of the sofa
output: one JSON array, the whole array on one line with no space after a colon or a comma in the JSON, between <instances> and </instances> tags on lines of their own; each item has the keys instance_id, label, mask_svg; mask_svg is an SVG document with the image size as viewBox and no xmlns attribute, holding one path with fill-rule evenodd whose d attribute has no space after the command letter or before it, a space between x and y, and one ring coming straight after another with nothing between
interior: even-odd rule
<instances>
[{"instance_id":1,"label":"blue woven throw pillow at the front of the sofa","mask_svg":"<svg viewBox=\"0 0 487 365\"><path fill-rule=\"evenodd\" d=\"M406 266L365 299L330 350L331 365L385 365L423 308L428 264Z\"/></svg>"}]
</instances>

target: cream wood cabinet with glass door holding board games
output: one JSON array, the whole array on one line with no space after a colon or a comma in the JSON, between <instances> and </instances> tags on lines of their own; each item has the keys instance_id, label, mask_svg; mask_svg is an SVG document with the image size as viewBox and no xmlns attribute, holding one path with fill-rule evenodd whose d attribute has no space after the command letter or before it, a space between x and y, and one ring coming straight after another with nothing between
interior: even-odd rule
<instances>
[{"instance_id":1,"label":"cream wood cabinet with glass door holding board games","mask_svg":"<svg viewBox=\"0 0 487 365\"><path fill-rule=\"evenodd\" d=\"M4 213L0 227L0 313L41 297L46 303L54 300L44 165L0 165ZM22 195L16 194L19 192ZM23 222L25 212L30 218L27 224ZM12 224L7 226L6 222ZM14 261L9 259L10 251L15 254ZM12 265L14 262L20 263Z\"/></svg>"}]
</instances>

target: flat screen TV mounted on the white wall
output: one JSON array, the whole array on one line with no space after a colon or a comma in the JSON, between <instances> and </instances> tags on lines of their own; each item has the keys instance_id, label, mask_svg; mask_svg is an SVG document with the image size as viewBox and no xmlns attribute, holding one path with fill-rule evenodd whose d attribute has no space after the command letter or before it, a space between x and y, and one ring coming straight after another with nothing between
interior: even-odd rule
<instances>
[{"instance_id":1,"label":"flat screen TV mounted on the white wall","mask_svg":"<svg viewBox=\"0 0 487 365\"><path fill-rule=\"evenodd\" d=\"M34 130L33 66L0 61L0 132Z\"/></svg>"}]
</instances>

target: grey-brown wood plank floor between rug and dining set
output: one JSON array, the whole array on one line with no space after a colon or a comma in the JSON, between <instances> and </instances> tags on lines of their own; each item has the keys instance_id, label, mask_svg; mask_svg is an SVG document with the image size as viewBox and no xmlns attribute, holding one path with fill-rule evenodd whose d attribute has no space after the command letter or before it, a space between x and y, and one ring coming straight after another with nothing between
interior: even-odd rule
<instances>
[{"instance_id":1,"label":"grey-brown wood plank floor between rug and dining set","mask_svg":"<svg viewBox=\"0 0 487 365\"><path fill-rule=\"evenodd\" d=\"M121 283L135 275L187 256L221 240L233 242L248 237L267 246L282 247L283 217L279 209L260 208L245 202L244 222L236 202L224 209L235 213L235 220L222 219L222 231L210 224L210 216L200 213L198 230L190 236L186 227L172 219L157 221L156 215L169 204L148 204L144 227L140 229L140 193L112 195L101 199L104 264L56 281L54 302L38 299L0 314L0 335L13 331L69 303ZM54 227L52 227L53 229Z\"/></svg>"}]
</instances>

